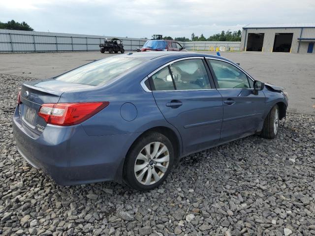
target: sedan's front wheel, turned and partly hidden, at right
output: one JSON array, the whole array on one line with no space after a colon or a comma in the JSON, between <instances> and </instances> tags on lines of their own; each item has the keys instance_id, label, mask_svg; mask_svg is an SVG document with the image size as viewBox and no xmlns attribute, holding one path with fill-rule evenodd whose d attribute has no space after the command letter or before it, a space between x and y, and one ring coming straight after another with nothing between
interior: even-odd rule
<instances>
[{"instance_id":1,"label":"sedan's front wheel, turned and partly hidden, at right","mask_svg":"<svg viewBox=\"0 0 315 236\"><path fill-rule=\"evenodd\" d=\"M279 107L275 105L265 118L264 126L261 131L261 137L265 139L274 139L279 130Z\"/></svg>"}]
</instances>

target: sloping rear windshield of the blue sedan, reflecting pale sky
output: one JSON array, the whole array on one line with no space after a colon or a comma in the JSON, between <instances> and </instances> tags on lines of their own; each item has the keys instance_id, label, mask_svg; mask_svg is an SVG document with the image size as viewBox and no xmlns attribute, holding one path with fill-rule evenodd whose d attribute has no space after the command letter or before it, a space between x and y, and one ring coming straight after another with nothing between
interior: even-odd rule
<instances>
[{"instance_id":1,"label":"sloping rear windshield of the blue sedan, reflecting pale sky","mask_svg":"<svg viewBox=\"0 0 315 236\"><path fill-rule=\"evenodd\" d=\"M92 86L105 85L143 61L138 58L110 57L71 70L56 80Z\"/></svg>"}]
</instances>

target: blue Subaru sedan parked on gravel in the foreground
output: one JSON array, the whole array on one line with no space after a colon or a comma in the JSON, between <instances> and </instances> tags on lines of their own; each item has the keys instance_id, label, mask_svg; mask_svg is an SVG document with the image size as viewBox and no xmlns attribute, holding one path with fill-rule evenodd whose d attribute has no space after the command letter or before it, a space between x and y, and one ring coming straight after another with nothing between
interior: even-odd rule
<instances>
[{"instance_id":1,"label":"blue Subaru sedan parked on gravel in the foreground","mask_svg":"<svg viewBox=\"0 0 315 236\"><path fill-rule=\"evenodd\" d=\"M283 88L198 53L124 54L26 82L13 131L21 155L61 185L157 187L178 160L252 134L273 139Z\"/></svg>"}]
</instances>

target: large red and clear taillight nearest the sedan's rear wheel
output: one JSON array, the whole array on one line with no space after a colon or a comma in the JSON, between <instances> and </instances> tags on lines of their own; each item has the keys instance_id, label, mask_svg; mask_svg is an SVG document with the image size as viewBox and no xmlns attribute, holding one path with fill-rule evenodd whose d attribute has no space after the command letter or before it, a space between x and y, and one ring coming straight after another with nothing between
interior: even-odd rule
<instances>
[{"instance_id":1,"label":"large red and clear taillight nearest the sedan's rear wheel","mask_svg":"<svg viewBox=\"0 0 315 236\"><path fill-rule=\"evenodd\" d=\"M74 125L87 120L109 105L109 102L46 103L38 116L49 124Z\"/></svg>"}]
</instances>

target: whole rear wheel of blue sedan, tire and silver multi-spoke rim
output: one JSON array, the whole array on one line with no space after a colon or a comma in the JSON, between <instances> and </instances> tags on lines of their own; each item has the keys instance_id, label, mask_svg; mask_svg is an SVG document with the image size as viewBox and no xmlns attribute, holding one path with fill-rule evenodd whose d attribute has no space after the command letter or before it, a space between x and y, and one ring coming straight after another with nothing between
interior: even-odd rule
<instances>
[{"instance_id":1,"label":"whole rear wheel of blue sedan, tire and silver multi-spoke rim","mask_svg":"<svg viewBox=\"0 0 315 236\"><path fill-rule=\"evenodd\" d=\"M169 139L160 133L141 137L129 150L124 165L127 184L137 190L151 190L168 176L174 163Z\"/></svg>"}]
</instances>

